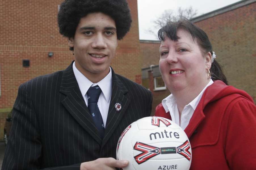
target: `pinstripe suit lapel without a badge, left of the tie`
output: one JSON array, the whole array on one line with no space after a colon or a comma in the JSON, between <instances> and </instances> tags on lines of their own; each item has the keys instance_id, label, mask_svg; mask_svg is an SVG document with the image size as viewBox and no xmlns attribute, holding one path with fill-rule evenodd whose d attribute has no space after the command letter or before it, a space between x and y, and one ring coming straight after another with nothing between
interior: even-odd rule
<instances>
[{"instance_id":1,"label":"pinstripe suit lapel without a badge, left of the tie","mask_svg":"<svg viewBox=\"0 0 256 170\"><path fill-rule=\"evenodd\" d=\"M93 123L93 119L85 104L79 86L77 84L72 64L63 71L60 92L66 95L62 101L63 106L74 117L74 119L99 143L102 139Z\"/></svg>"}]
</instances>

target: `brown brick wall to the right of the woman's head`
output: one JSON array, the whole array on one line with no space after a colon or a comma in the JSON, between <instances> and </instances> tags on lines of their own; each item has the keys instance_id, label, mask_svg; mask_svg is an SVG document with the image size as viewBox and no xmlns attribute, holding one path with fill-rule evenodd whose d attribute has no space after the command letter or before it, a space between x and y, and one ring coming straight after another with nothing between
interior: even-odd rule
<instances>
[{"instance_id":1,"label":"brown brick wall to the right of the woman's head","mask_svg":"<svg viewBox=\"0 0 256 170\"><path fill-rule=\"evenodd\" d=\"M213 45L228 83L256 102L256 3L196 22Z\"/></svg>"}]
</instances>

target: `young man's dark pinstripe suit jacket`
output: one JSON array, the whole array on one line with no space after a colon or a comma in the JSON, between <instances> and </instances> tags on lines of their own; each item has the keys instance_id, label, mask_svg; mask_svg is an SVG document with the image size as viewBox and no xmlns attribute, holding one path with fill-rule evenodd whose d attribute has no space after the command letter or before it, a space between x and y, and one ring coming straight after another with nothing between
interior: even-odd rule
<instances>
[{"instance_id":1,"label":"young man's dark pinstripe suit jacket","mask_svg":"<svg viewBox=\"0 0 256 170\"><path fill-rule=\"evenodd\" d=\"M119 112L116 103L122 106ZM112 71L112 96L101 139L72 64L34 78L19 87L2 169L79 169L81 162L115 158L122 131L149 116L151 105L150 91Z\"/></svg>"}]
</instances>

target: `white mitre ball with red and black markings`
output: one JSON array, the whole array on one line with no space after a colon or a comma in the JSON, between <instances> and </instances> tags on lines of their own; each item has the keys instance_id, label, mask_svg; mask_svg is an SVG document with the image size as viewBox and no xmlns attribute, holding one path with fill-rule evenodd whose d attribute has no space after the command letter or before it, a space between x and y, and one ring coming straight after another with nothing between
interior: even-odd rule
<instances>
[{"instance_id":1,"label":"white mitre ball with red and black markings","mask_svg":"<svg viewBox=\"0 0 256 170\"><path fill-rule=\"evenodd\" d=\"M144 117L123 131L116 157L129 161L123 170L188 170L192 154L179 125L163 117Z\"/></svg>"}]
</instances>

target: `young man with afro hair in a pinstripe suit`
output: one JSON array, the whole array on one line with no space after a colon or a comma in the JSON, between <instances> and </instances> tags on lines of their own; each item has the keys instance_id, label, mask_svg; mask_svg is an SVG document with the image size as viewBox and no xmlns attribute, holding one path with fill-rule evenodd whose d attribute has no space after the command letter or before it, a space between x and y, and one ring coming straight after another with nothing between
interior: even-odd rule
<instances>
[{"instance_id":1,"label":"young man with afro hair in a pinstripe suit","mask_svg":"<svg viewBox=\"0 0 256 170\"><path fill-rule=\"evenodd\" d=\"M152 105L150 91L110 67L131 26L127 2L66 0L58 23L75 61L19 87L2 169L125 167L115 159L119 136Z\"/></svg>"}]
</instances>

